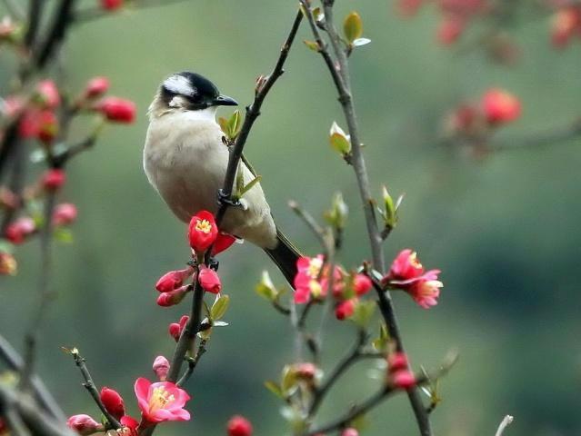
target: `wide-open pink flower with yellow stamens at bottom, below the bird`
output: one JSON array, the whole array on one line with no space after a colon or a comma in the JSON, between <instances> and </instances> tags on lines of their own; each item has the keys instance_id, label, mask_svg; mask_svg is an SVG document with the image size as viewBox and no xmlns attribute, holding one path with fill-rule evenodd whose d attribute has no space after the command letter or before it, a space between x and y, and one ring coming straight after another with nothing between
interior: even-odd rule
<instances>
[{"instance_id":1,"label":"wide-open pink flower with yellow stamens at bottom, below the bird","mask_svg":"<svg viewBox=\"0 0 581 436\"><path fill-rule=\"evenodd\" d=\"M170 381L152 383L144 378L135 381L135 396L146 422L189 421L190 413L184 409L190 396Z\"/></svg>"}]
</instances>

